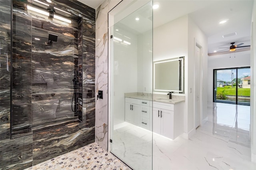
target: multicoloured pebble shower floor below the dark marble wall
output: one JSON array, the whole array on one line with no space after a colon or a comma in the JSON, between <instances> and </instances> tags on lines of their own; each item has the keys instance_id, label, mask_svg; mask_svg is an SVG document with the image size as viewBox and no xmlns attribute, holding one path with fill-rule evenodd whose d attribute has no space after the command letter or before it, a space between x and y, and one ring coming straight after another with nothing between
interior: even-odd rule
<instances>
[{"instance_id":1,"label":"multicoloured pebble shower floor below the dark marble wall","mask_svg":"<svg viewBox=\"0 0 256 170\"><path fill-rule=\"evenodd\" d=\"M113 154L92 143L26 170L130 170Z\"/></svg>"}]
</instances>

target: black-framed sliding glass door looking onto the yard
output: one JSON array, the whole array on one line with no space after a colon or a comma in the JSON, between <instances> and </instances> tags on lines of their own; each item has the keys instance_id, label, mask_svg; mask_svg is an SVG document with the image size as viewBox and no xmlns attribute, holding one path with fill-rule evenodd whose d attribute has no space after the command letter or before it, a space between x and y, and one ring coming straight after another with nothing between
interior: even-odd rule
<instances>
[{"instance_id":1,"label":"black-framed sliding glass door looking onto the yard","mask_svg":"<svg viewBox=\"0 0 256 170\"><path fill-rule=\"evenodd\" d=\"M214 69L213 101L250 105L250 67Z\"/></svg>"}]
</instances>

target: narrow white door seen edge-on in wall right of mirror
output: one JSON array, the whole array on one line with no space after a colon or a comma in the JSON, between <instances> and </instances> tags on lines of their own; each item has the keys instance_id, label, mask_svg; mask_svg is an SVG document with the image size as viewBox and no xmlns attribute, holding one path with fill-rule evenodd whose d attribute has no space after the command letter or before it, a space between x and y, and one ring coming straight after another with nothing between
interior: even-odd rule
<instances>
[{"instance_id":1,"label":"narrow white door seen edge-on in wall right of mirror","mask_svg":"<svg viewBox=\"0 0 256 170\"><path fill-rule=\"evenodd\" d=\"M200 47L195 47L195 128L200 125Z\"/></svg>"}]
</instances>

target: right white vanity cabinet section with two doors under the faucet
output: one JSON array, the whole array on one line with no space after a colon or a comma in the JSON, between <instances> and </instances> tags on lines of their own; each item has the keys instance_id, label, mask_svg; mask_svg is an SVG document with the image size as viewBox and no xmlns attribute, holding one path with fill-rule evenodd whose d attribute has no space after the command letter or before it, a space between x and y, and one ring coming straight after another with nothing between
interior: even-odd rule
<instances>
[{"instance_id":1,"label":"right white vanity cabinet section with two doors under the faucet","mask_svg":"<svg viewBox=\"0 0 256 170\"><path fill-rule=\"evenodd\" d=\"M153 102L153 132L171 139L182 134L182 104Z\"/></svg>"}]
</instances>

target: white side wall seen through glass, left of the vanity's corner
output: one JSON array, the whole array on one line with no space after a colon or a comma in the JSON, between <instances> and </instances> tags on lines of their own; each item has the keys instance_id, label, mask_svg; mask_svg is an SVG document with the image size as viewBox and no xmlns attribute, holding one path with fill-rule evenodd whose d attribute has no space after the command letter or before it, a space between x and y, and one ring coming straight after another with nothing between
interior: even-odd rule
<instances>
[{"instance_id":1,"label":"white side wall seen through glass, left of the vanity's corner","mask_svg":"<svg viewBox=\"0 0 256 170\"><path fill-rule=\"evenodd\" d=\"M125 100L124 93L137 92L137 36L131 31L118 28L118 33L114 36L130 42L126 45L119 41L114 41L114 103L113 118L114 125L125 121ZM126 38L129 37L130 39Z\"/></svg>"}]
</instances>

